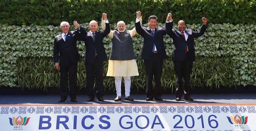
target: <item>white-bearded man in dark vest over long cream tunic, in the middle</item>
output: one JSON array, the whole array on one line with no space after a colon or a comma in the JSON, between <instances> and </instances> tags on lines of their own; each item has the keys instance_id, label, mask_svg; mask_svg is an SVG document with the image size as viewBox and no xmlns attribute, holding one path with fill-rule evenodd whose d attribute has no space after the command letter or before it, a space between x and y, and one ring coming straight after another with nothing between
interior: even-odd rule
<instances>
[{"instance_id":1,"label":"white-bearded man in dark vest over long cream tunic, in the middle","mask_svg":"<svg viewBox=\"0 0 256 131\"><path fill-rule=\"evenodd\" d=\"M139 18L137 16L137 18ZM141 22L141 18L140 18ZM102 23L102 29L104 30ZM135 60L132 37L137 34L136 29L125 30L125 22L117 23L118 30L111 30L108 34L112 38L111 55L107 70L107 76L115 77L116 98L121 101L121 81L125 80L125 100L133 101L130 96L131 76L138 76L138 67Z\"/></svg>"}]
</instances>

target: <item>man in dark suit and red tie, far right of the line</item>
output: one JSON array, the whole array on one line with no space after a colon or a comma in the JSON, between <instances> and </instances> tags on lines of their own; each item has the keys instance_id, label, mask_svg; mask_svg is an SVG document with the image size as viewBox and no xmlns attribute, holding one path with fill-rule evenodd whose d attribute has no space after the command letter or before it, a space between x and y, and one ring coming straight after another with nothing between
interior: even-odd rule
<instances>
[{"instance_id":1,"label":"man in dark suit and red tie, far right of the line","mask_svg":"<svg viewBox=\"0 0 256 131\"><path fill-rule=\"evenodd\" d=\"M168 14L171 22L166 24L166 32L173 39L174 49L171 55L171 60L174 62L174 69L176 73L176 101L180 101L182 94L186 101L193 101L190 97L190 74L192 71L192 64L195 61L194 39L204 34L208 25L207 19L202 18L203 25L199 31L185 29L186 25L183 20L178 22L178 30L173 28L173 21L171 13ZM182 78L184 79L184 88L182 86Z\"/></svg>"}]
</instances>

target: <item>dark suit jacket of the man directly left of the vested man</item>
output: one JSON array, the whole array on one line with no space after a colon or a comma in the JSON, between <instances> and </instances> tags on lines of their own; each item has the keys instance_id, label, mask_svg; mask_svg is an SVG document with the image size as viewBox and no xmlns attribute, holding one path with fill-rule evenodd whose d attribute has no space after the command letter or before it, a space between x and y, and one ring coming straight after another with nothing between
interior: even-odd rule
<instances>
[{"instance_id":1,"label":"dark suit jacket of the man directly left of the vested man","mask_svg":"<svg viewBox=\"0 0 256 131\"><path fill-rule=\"evenodd\" d=\"M79 31L81 33L79 33ZM80 26L80 30L76 31L76 38L78 40L85 41L85 63L93 63L95 60L95 49L97 52L97 58L100 61L107 60L106 51L103 45L103 38L110 32L110 25L106 23L106 30L100 30L95 32L95 42L93 42L92 34L86 32L86 30Z\"/></svg>"}]
</instances>

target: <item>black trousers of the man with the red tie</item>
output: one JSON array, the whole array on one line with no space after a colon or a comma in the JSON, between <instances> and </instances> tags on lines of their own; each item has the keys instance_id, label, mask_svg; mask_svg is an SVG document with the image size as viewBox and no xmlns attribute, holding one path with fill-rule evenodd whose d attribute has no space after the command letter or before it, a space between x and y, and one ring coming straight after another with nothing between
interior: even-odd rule
<instances>
[{"instance_id":1,"label":"black trousers of the man with the red tie","mask_svg":"<svg viewBox=\"0 0 256 131\"><path fill-rule=\"evenodd\" d=\"M174 62L174 69L176 73L176 97L181 97L182 94L184 94L185 91L185 97L190 96L190 74L192 71L192 64L193 62L189 60L188 53L185 56L185 59L183 61L173 61ZM184 86L183 81L184 79ZM184 88L183 88L184 87Z\"/></svg>"}]
</instances>

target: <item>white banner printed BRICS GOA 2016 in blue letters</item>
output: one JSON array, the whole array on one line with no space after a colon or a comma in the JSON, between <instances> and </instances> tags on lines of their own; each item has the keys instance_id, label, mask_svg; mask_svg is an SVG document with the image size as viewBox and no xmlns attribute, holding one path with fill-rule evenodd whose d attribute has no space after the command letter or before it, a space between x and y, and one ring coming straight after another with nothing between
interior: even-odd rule
<instances>
[{"instance_id":1,"label":"white banner printed BRICS GOA 2016 in blue letters","mask_svg":"<svg viewBox=\"0 0 256 131\"><path fill-rule=\"evenodd\" d=\"M256 131L256 104L0 105L1 131Z\"/></svg>"}]
</instances>

